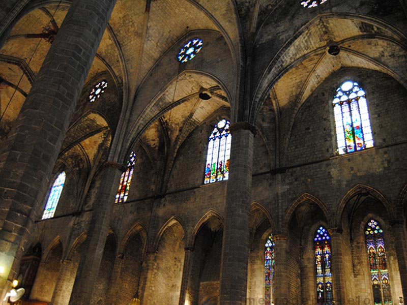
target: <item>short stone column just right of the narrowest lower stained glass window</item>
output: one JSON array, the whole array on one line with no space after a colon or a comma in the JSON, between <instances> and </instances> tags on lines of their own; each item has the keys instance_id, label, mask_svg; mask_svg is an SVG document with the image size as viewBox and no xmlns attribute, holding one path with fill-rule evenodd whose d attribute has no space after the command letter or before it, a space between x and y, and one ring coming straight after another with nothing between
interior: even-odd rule
<instances>
[{"instance_id":1,"label":"short stone column just right of the narrowest lower stained glass window","mask_svg":"<svg viewBox=\"0 0 407 305\"><path fill-rule=\"evenodd\" d=\"M273 235L274 238L274 303L276 305L289 304L288 296L288 261L287 261L287 236Z\"/></svg>"}]
</instances>

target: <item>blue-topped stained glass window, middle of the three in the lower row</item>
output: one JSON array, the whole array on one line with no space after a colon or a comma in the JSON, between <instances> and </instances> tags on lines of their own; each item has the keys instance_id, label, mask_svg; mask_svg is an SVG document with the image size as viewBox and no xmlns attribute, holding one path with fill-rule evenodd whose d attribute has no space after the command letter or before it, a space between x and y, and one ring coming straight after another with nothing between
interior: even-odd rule
<instances>
[{"instance_id":1,"label":"blue-topped stained glass window, middle of the three in the lower row","mask_svg":"<svg viewBox=\"0 0 407 305\"><path fill-rule=\"evenodd\" d=\"M333 305L331 237L327 229L319 227L314 237L314 255L316 270L316 303Z\"/></svg>"}]
</instances>

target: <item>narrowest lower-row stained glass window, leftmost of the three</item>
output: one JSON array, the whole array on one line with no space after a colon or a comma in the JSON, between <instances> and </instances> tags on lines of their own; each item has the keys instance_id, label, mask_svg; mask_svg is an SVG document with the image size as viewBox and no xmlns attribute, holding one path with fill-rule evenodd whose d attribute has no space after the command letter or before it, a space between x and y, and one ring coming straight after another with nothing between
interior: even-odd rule
<instances>
[{"instance_id":1,"label":"narrowest lower-row stained glass window, leftmost of the three","mask_svg":"<svg viewBox=\"0 0 407 305\"><path fill-rule=\"evenodd\" d=\"M273 234L269 235L267 238L265 251L264 251L264 273L265 273L265 304L271 305L274 303L273 296L274 296L274 240Z\"/></svg>"}]
</instances>

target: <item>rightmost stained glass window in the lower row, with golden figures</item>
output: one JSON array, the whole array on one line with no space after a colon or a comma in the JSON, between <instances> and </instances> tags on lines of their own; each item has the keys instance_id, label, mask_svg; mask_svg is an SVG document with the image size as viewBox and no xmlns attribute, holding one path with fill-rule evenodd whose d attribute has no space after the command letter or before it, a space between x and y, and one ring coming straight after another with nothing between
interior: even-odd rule
<instances>
[{"instance_id":1,"label":"rightmost stained glass window in the lower row, with golden figures","mask_svg":"<svg viewBox=\"0 0 407 305\"><path fill-rule=\"evenodd\" d=\"M367 255L369 257L370 280L375 304L391 304L389 269L383 230L379 222L371 219L365 229Z\"/></svg>"}]
</instances>

